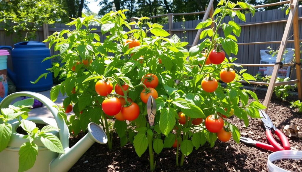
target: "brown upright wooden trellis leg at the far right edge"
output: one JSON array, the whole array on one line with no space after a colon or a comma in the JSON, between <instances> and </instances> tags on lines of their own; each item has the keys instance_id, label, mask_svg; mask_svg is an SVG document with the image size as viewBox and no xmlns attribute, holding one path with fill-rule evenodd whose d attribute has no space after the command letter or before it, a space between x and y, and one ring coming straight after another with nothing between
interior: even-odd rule
<instances>
[{"instance_id":1,"label":"brown upright wooden trellis leg at the far right edge","mask_svg":"<svg viewBox=\"0 0 302 172\"><path fill-rule=\"evenodd\" d=\"M296 5L297 8L297 5ZM295 47L295 58L296 63L301 63L300 58L300 41L299 41L299 25L298 25L298 11L294 14L293 19L293 30L294 30L294 47ZM302 99L302 82L301 82L301 65L296 65L296 76L297 76L297 88L298 88L298 99Z\"/></svg>"}]
</instances>

